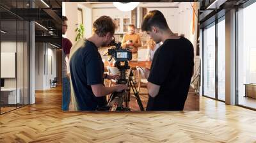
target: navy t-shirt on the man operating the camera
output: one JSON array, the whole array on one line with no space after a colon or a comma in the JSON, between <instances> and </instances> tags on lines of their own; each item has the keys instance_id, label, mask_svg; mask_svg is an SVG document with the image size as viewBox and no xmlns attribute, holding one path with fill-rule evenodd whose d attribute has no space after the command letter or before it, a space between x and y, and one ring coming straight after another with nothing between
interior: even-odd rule
<instances>
[{"instance_id":1,"label":"navy t-shirt on the man operating the camera","mask_svg":"<svg viewBox=\"0 0 256 143\"><path fill-rule=\"evenodd\" d=\"M75 47L76 48L76 47ZM106 96L96 97L92 85L103 84L104 63L92 41L85 40L70 57L70 77L79 110L95 110L106 105Z\"/></svg>"}]
</instances>

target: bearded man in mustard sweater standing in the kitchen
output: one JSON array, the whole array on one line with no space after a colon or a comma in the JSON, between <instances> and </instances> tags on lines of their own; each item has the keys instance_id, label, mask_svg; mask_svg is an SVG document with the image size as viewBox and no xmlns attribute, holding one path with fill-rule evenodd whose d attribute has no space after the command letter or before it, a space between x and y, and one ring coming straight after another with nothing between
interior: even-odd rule
<instances>
[{"instance_id":1,"label":"bearded man in mustard sweater standing in the kitchen","mask_svg":"<svg viewBox=\"0 0 256 143\"><path fill-rule=\"evenodd\" d=\"M122 47L132 48L132 59L138 59L138 47L141 47L140 35L135 33L135 26L128 26L128 33L124 35L122 40Z\"/></svg>"}]
</instances>

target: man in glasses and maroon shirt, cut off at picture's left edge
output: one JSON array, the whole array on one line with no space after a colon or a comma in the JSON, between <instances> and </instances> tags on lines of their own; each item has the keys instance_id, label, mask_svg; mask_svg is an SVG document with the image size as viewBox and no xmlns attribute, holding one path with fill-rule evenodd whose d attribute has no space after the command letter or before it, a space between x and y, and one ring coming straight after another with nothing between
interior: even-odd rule
<instances>
[{"instance_id":1,"label":"man in glasses and maroon shirt, cut off at picture's left edge","mask_svg":"<svg viewBox=\"0 0 256 143\"><path fill-rule=\"evenodd\" d=\"M62 16L62 34L67 31L67 17ZM70 102L70 72L69 53L72 43L67 38L62 37L62 110L68 110Z\"/></svg>"}]
</instances>

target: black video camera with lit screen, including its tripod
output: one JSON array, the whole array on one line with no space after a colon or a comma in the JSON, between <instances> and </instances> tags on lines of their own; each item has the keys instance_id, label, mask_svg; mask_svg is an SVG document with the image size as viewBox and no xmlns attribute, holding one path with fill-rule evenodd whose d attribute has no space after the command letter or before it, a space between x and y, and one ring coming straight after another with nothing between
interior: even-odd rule
<instances>
[{"instance_id":1,"label":"black video camera with lit screen, including its tripod","mask_svg":"<svg viewBox=\"0 0 256 143\"><path fill-rule=\"evenodd\" d=\"M128 61L131 61L132 59L132 52L128 48L123 49L121 47L121 42L115 42L115 39L111 41L109 46L112 46L111 49L108 49L108 53L104 54L108 56L111 56L108 61L111 61L111 59L114 57L115 59L115 67L118 68L120 71L120 78L116 80L116 84L127 84L129 86L129 89L126 89L122 92L115 92L112 93L109 97L108 103L105 107L101 107L97 110L125 110L129 111L129 102L130 102L130 91L134 92L134 95L136 96L136 100L139 104L140 110L144 110L143 105L140 100L139 93L135 87L135 84L132 80L132 70L130 73L128 73L128 79L125 78L125 71L130 69L130 66L128 64ZM124 103L124 105L123 105Z\"/></svg>"}]
</instances>

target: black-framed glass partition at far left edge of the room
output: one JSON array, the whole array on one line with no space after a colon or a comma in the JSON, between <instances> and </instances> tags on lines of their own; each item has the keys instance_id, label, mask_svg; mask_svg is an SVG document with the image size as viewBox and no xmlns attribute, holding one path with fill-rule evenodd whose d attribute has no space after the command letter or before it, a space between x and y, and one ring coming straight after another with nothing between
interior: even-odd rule
<instances>
[{"instance_id":1,"label":"black-framed glass partition at far left edge of the room","mask_svg":"<svg viewBox=\"0 0 256 143\"><path fill-rule=\"evenodd\" d=\"M27 8L26 3L13 1L13 10ZM0 114L3 114L29 104L29 22L2 8L0 11L6 13L0 19ZM12 71L6 70L6 66Z\"/></svg>"}]
</instances>

